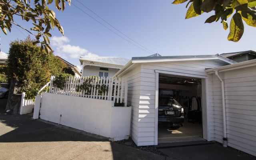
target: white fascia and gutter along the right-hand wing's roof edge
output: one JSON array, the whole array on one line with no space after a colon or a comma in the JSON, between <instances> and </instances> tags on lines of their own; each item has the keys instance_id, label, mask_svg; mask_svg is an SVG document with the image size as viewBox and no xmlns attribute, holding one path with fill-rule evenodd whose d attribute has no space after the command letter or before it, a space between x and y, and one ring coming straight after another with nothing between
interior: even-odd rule
<instances>
[{"instance_id":1,"label":"white fascia and gutter along the right-hand wing's roof edge","mask_svg":"<svg viewBox=\"0 0 256 160\"><path fill-rule=\"evenodd\" d=\"M250 66L256 66L256 59L239 62L239 63L235 63L235 64L230 64L230 65L222 66L222 67L218 67L218 68L208 69L208 70L205 70L205 72L207 74L212 74L216 70L218 70L218 72L224 72L224 71L228 71L228 70L235 70L235 69L240 69L240 68L245 68L245 67L250 67Z\"/></svg>"}]
</instances>

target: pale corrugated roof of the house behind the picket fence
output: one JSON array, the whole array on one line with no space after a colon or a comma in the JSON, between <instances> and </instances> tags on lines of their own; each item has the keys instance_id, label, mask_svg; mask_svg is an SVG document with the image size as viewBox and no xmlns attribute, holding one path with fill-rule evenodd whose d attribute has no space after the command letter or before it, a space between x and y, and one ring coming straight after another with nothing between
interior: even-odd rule
<instances>
[{"instance_id":1,"label":"pale corrugated roof of the house behind the picket fence","mask_svg":"<svg viewBox=\"0 0 256 160\"><path fill-rule=\"evenodd\" d=\"M129 62L126 58L119 58L119 57L90 57L90 56L81 56L79 58L80 62L82 61L91 61L91 62L100 62L106 64L115 64L124 66L127 62Z\"/></svg>"}]
</instances>

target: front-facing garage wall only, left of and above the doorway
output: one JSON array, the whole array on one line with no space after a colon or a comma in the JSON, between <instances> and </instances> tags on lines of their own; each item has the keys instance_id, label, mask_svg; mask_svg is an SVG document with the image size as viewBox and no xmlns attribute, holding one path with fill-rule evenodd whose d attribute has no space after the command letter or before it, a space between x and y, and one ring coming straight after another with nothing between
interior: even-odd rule
<instances>
[{"instance_id":1,"label":"front-facing garage wall only, left of and above the doorway","mask_svg":"<svg viewBox=\"0 0 256 160\"><path fill-rule=\"evenodd\" d=\"M136 108L138 123L138 145L154 145L155 126L155 70L207 76L205 68L224 66L213 60L191 60L182 62L160 62L141 64L139 107Z\"/></svg>"}]
</instances>

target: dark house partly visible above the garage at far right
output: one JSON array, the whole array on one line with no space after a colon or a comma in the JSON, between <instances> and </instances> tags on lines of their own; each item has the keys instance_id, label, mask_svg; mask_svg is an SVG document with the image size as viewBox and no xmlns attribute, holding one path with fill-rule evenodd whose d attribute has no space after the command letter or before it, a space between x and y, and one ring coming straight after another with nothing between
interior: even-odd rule
<instances>
[{"instance_id":1,"label":"dark house partly visible above the garage at far right","mask_svg":"<svg viewBox=\"0 0 256 160\"><path fill-rule=\"evenodd\" d=\"M256 52L253 50L242 51L242 52L232 52L220 54L226 58L234 60L236 62L244 62L246 60L256 59Z\"/></svg>"}]
</instances>

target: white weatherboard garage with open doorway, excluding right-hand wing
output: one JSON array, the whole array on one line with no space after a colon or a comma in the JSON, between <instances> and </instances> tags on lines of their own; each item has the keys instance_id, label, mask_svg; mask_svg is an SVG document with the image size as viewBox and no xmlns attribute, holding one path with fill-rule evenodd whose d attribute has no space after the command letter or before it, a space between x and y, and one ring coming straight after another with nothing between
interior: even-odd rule
<instances>
[{"instance_id":1,"label":"white weatherboard garage with open doorway, excluding right-hand wing","mask_svg":"<svg viewBox=\"0 0 256 160\"><path fill-rule=\"evenodd\" d=\"M219 55L133 57L114 76L122 78L128 85L127 106L132 107L130 136L136 145L202 139L211 141L215 129L212 127L215 121L212 113L216 111L210 107L214 103L209 99L212 95L209 96L208 91L212 82L205 70L233 63ZM159 123L160 96L172 97L176 102L174 105L182 106L184 122L179 128L172 123ZM181 109L178 112L182 114ZM164 112L162 114L165 115ZM172 110L168 114L176 116ZM218 118L221 120L221 117Z\"/></svg>"}]
</instances>

